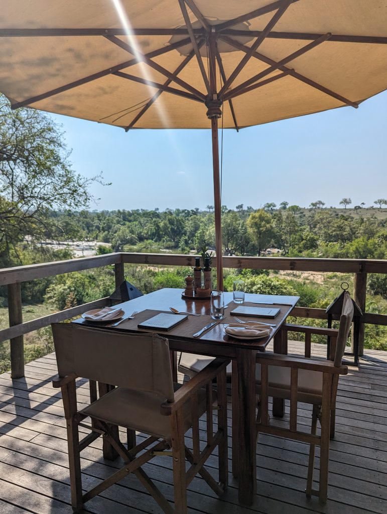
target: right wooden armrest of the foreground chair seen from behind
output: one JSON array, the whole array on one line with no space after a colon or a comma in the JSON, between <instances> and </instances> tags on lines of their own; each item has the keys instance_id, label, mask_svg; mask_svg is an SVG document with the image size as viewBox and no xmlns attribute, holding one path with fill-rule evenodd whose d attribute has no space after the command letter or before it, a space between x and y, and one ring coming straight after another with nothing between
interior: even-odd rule
<instances>
[{"instance_id":1,"label":"right wooden armrest of the foreground chair seen from behind","mask_svg":"<svg viewBox=\"0 0 387 514\"><path fill-rule=\"evenodd\" d=\"M182 405L189 400L196 391L212 382L219 372L226 370L229 362L230 359L222 359L220 357L210 362L204 370L201 370L197 375L191 378L191 380L183 384L178 391L176 391L175 401L164 401L161 403L161 414L168 416L182 407Z\"/></svg>"}]
</instances>

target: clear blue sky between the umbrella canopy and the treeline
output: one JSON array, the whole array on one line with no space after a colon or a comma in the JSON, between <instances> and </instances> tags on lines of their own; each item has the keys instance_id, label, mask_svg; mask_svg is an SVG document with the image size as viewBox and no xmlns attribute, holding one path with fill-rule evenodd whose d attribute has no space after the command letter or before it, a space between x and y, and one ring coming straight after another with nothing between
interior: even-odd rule
<instances>
[{"instance_id":1,"label":"clear blue sky between the umbrella canopy and the treeline","mask_svg":"<svg viewBox=\"0 0 387 514\"><path fill-rule=\"evenodd\" d=\"M262 207L266 202L307 207L373 205L387 197L387 91L360 104L223 134L222 204ZM205 113L204 113L205 115ZM103 172L110 186L91 192L91 209L153 209L213 205L209 130L122 129L66 116L73 169ZM219 134L220 141L220 134Z\"/></svg>"}]
</instances>

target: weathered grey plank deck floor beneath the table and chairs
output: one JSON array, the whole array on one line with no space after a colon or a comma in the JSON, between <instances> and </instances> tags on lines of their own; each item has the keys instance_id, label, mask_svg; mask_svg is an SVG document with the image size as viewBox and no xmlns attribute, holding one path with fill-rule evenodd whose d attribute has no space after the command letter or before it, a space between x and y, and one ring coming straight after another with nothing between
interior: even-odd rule
<instances>
[{"instance_id":1,"label":"weathered grey plank deck floor beneath the table and chairs","mask_svg":"<svg viewBox=\"0 0 387 514\"><path fill-rule=\"evenodd\" d=\"M289 343L289 353L301 343ZM321 355L324 346L314 345ZM387 512L387 352L367 351L360 368L341 377L337 400L336 438L330 445L328 502L308 501L304 494L307 447L269 436L257 444L258 492L253 506L237 502L236 482L219 500L200 478L188 493L191 512L208 514L360 514ZM26 365L25 378L0 375L0 512L2 514L71 514L65 421L60 392L51 386L56 373L54 354ZM180 377L181 379L182 377ZM80 398L87 384L80 383ZM309 411L299 423L309 423ZM231 412L229 412L231 423ZM229 439L231 457L231 437ZM95 485L119 467L103 461L99 440L82 452L83 480ZM172 498L168 457L144 468ZM216 467L216 460L209 466ZM231 465L231 463L230 463ZM231 466L230 466L231 467ZM161 512L134 476L87 503L85 512L98 514Z\"/></svg>"}]
</instances>

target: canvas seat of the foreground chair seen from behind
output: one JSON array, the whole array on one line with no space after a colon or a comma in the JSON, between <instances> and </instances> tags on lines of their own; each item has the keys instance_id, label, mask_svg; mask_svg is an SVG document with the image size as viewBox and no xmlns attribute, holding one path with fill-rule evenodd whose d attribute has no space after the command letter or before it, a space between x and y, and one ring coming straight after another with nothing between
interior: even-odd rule
<instances>
[{"instance_id":1,"label":"canvas seat of the foreground chair seen from behind","mask_svg":"<svg viewBox=\"0 0 387 514\"><path fill-rule=\"evenodd\" d=\"M181 384L174 382L176 392ZM215 392L213 399L216 400ZM116 388L80 411L82 414L113 423L120 427L137 430L154 437L162 437L171 442L171 422L161 414L160 405L164 398L152 393ZM206 390L198 391L199 416L206 411ZM190 403L183 406L183 430L186 433L192 426Z\"/></svg>"}]
</instances>

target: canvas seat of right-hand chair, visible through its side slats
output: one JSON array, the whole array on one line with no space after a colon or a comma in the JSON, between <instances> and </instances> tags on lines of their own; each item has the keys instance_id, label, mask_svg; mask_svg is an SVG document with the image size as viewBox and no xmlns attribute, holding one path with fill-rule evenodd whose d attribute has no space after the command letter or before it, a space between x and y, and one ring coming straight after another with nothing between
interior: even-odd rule
<instances>
[{"instance_id":1,"label":"canvas seat of right-hand chair, visible through its side slats","mask_svg":"<svg viewBox=\"0 0 387 514\"><path fill-rule=\"evenodd\" d=\"M268 366L269 396L290 400L290 368ZM321 405L323 374L299 370L297 401ZM255 366L255 391L261 394L261 364Z\"/></svg>"}]
</instances>

